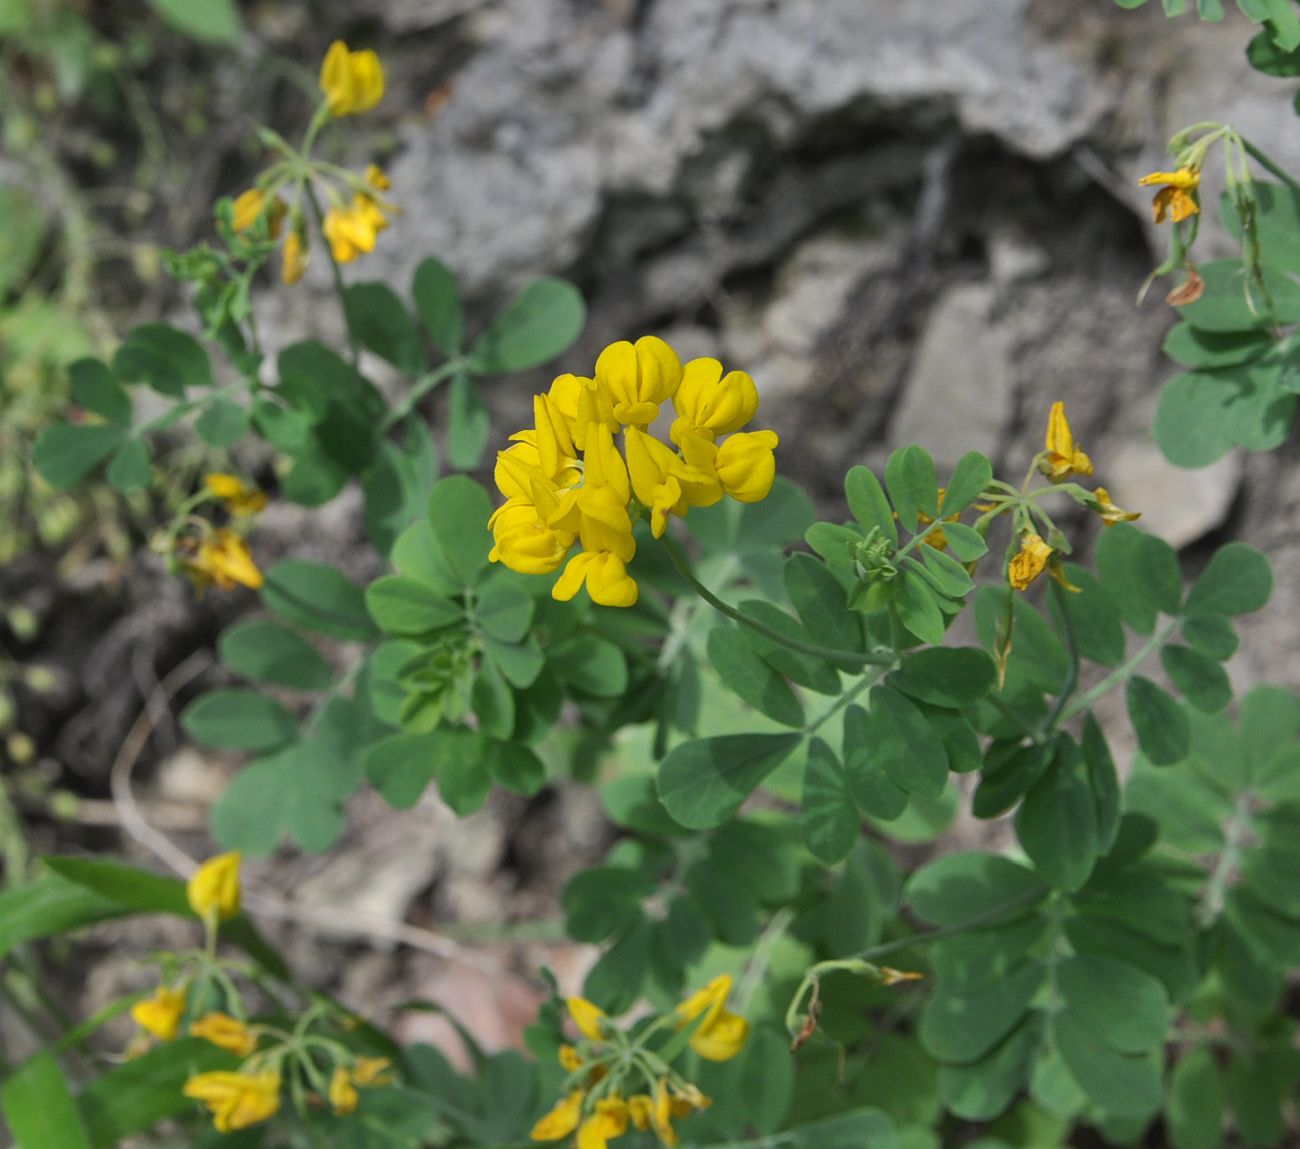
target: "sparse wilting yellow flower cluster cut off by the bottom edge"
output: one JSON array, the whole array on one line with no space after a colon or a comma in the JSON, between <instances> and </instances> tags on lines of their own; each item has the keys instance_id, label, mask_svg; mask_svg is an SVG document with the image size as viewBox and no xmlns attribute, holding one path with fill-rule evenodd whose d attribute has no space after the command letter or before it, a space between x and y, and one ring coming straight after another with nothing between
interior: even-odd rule
<instances>
[{"instance_id":1,"label":"sparse wilting yellow flower cluster cut off by the bottom edge","mask_svg":"<svg viewBox=\"0 0 1300 1149\"><path fill-rule=\"evenodd\" d=\"M727 1009L731 985L729 976L715 977L668 1015L677 1029L693 1026L690 1048L710 1061L728 1061L749 1037L749 1023ZM577 1079L578 1088L571 1089L533 1126L532 1139L558 1141L576 1131L577 1149L606 1149L630 1126L642 1132L653 1130L662 1144L676 1145L673 1119L707 1109L708 1098L658 1058L638 1058L636 1050L620 1044L621 1031L598 1006L581 997L568 998L567 1005L585 1041L581 1049L562 1045L559 1059L571 1078ZM656 1028L659 1023L650 1032ZM624 1068L638 1062L655 1065L662 1072L656 1068L658 1076L649 1078L640 1070L645 1088L624 1096Z\"/></svg>"}]
</instances>

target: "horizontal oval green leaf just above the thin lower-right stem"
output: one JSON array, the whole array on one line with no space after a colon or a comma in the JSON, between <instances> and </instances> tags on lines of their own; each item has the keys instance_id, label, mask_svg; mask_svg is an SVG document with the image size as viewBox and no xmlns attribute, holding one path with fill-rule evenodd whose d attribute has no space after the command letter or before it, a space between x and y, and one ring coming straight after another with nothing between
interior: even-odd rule
<instances>
[{"instance_id":1,"label":"horizontal oval green leaf just above the thin lower-right stem","mask_svg":"<svg viewBox=\"0 0 1300 1149\"><path fill-rule=\"evenodd\" d=\"M946 854L920 867L907 881L905 901L932 925L962 925L975 919L1023 916L1048 896L1048 886L1010 858L979 851Z\"/></svg>"}]
</instances>

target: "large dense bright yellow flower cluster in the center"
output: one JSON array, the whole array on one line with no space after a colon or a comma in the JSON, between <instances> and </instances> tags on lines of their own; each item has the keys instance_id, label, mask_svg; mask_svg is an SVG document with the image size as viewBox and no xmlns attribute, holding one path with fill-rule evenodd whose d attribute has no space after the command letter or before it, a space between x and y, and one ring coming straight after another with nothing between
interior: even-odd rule
<instances>
[{"instance_id":1,"label":"large dense bright yellow flower cluster in the center","mask_svg":"<svg viewBox=\"0 0 1300 1149\"><path fill-rule=\"evenodd\" d=\"M649 433L668 400L676 451ZM585 584L593 602L632 606L637 584L627 564L637 549L636 517L647 513L659 538L670 515L724 495L757 503L772 489L776 433L741 432L757 412L758 389L745 372L724 374L716 359L682 365L653 335L611 343L593 377L559 376L534 395L534 426L511 435L514 446L498 454L495 478L506 502L488 523L491 560L550 574L577 541L581 552L564 565L551 595L567 602Z\"/></svg>"}]
</instances>

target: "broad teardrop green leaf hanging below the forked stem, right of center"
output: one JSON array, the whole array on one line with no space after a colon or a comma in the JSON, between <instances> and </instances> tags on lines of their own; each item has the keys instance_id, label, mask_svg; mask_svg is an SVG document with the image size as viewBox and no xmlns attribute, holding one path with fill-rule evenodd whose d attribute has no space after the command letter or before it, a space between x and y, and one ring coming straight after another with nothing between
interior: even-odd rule
<instances>
[{"instance_id":1,"label":"broad teardrop green leaf hanging below the forked stem, right of center","mask_svg":"<svg viewBox=\"0 0 1300 1149\"><path fill-rule=\"evenodd\" d=\"M1097 806L1072 743L1057 745L1056 759L1015 814L1015 836L1046 881L1076 890L1101 850Z\"/></svg>"}]
</instances>

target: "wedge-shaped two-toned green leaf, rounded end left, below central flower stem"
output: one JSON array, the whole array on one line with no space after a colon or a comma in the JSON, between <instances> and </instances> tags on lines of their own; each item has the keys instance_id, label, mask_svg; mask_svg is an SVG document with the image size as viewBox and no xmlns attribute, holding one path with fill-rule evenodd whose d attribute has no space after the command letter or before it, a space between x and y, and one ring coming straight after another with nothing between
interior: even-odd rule
<instances>
[{"instance_id":1,"label":"wedge-shaped two-toned green leaf, rounded end left, below central flower stem","mask_svg":"<svg viewBox=\"0 0 1300 1149\"><path fill-rule=\"evenodd\" d=\"M659 766L659 801L688 829L722 825L801 738L800 734L723 734L682 742Z\"/></svg>"}]
</instances>

